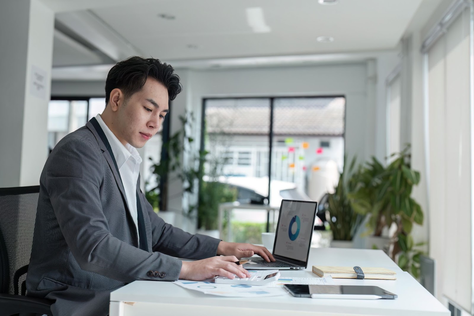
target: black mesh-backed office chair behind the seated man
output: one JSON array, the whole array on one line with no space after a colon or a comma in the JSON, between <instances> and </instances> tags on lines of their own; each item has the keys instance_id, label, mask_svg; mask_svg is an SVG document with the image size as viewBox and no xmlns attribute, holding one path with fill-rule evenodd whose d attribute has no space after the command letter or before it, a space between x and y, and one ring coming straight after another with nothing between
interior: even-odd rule
<instances>
[{"instance_id":1,"label":"black mesh-backed office chair behind the seated man","mask_svg":"<svg viewBox=\"0 0 474 316\"><path fill-rule=\"evenodd\" d=\"M0 188L0 316L52 315L54 300L26 296L38 193L39 186Z\"/></svg>"}]
</instances>

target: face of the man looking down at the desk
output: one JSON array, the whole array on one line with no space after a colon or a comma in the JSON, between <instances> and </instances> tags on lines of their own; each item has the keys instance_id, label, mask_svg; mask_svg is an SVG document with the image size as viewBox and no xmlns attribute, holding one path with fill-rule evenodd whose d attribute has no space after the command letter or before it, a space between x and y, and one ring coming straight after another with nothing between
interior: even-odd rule
<instances>
[{"instance_id":1,"label":"face of the man looking down at the desk","mask_svg":"<svg viewBox=\"0 0 474 316\"><path fill-rule=\"evenodd\" d=\"M160 129L167 112L168 90L149 77L142 90L118 107L114 130L122 143L125 141L135 148L142 148Z\"/></svg>"}]
</instances>

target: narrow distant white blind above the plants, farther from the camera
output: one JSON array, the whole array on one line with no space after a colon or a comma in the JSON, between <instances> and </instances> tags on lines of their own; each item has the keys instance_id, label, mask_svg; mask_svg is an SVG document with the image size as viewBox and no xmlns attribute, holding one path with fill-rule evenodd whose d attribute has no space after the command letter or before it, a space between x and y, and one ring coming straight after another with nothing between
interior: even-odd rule
<instances>
[{"instance_id":1,"label":"narrow distant white blind above the plants, farther from the camera","mask_svg":"<svg viewBox=\"0 0 474 316\"><path fill-rule=\"evenodd\" d=\"M388 127L388 155L400 152L400 108L401 85L400 75L397 75L387 87L387 127Z\"/></svg>"}]
</instances>

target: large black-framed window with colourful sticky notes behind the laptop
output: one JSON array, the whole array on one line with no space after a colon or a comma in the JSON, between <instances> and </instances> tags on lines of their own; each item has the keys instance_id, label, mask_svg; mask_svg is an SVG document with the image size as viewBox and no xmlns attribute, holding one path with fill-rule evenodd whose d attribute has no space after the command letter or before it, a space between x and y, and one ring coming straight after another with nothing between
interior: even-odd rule
<instances>
[{"instance_id":1,"label":"large black-framed window with colourful sticky notes behind the laptop","mask_svg":"<svg viewBox=\"0 0 474 316\"><path fill-rule=\"evenodd\" d=\"M236 186L241 202L248 203L244 190L272 206L295 192L295 199L302 193L319 201L337 183L344 164L344 97L216 98L205 99L203 109L202 146L210 153L204 172ZM260 243L260 232L274 229L266 211L232 214L233 227L247 227L234 228L232 241Z\"/></svg>"}]
</instances>

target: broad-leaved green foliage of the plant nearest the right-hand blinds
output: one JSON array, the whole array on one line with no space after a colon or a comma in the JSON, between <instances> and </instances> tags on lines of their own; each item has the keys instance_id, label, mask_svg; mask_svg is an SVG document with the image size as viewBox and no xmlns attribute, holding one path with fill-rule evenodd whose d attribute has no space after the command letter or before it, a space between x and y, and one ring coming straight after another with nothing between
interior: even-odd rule
<instances>
[{"instance_id":1,"label":"broad-leaved green foliage of the plant nearest the right-hand blinds","mask_svg":"<svg viewBox=\"0 0 474 316\"><path fill-rule=\"evenodd\" d=\"M419 276L419 256L422 253L414 244L410 235L413 224L423 224L423 211L411 197L413 186L419 184L420 173L411 168L410 145L400 153L390 156L393 161L387 166L372 158L370 163L361 168L356 188L349 194L354 210L368 214L368 232L381 236L384 227L390 228L395 223L396 231L390 237L393 260L398 258L398 265L413 276Z\"/></svg>"}]
</instances>

